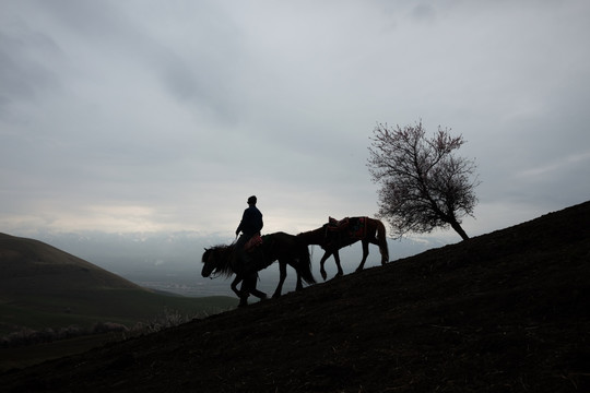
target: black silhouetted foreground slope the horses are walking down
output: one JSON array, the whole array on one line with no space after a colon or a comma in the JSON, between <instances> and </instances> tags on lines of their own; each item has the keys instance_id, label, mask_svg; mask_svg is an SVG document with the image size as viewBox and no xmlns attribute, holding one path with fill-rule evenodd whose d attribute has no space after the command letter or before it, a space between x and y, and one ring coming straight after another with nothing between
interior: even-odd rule
<instances>
[{"instance_id":1,"label":"black silhouetted foreground slope the horses are walking down","mask_svg":"<svg viewBox=\"0 0 590 393\"><path fill-rule=\"evenodd\" d=\"M0 376L7 392L588 392L590 202Z\"/></svg>"}]
</instances>

